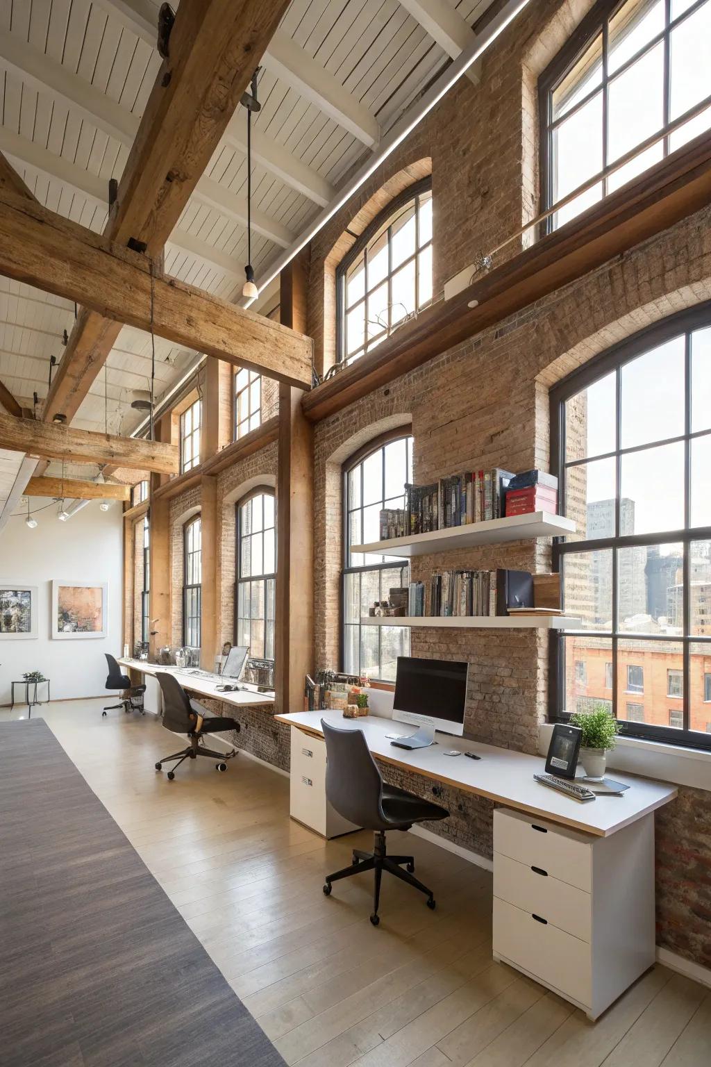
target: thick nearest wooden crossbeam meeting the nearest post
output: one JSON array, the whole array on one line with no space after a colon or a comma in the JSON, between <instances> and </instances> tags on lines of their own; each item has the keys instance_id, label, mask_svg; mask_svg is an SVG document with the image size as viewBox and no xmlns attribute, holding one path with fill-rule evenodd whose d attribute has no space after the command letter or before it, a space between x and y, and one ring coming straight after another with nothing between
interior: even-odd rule
<instances>
[{"instance_id":1,"label":"thick nearest wooden crossbeam meeting the nearest post","mask_svg":"<svg viewBox=\"0 0 711 1067\"><path fill-rule=\"evenodd\" d=\"M152 325L158 336L177 345L290 385L310 386L310 338L176 278L155 270L151 274L146 256L39 204L1 191L0 273L76 300L82 305L78 321L84 334L94 333L92 313L98 313L94 352L106 348L102 332L108 331L113 345L116 323L145 331ZM71 361L65 366L65 361L66 353L59 368L65 367L66 380L74 367ZM78 380L82 397L95 377Z\"/></svg>"}]
</instances>

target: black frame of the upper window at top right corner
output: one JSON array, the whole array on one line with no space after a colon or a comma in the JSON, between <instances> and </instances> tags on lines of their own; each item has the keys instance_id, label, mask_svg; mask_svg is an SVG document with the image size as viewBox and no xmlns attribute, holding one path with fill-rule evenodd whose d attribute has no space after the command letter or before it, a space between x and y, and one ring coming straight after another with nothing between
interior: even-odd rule
<instances>
[{"instance_id":1,"label":"black frame of the upper window at top right corner","mask_svg":"<svg viewBox=\"0 0 711 1067\"><path fill-rule=\"evenodd\" d=\"M608 27L610 20L614 18L619 9L625 6L627 0L598 0L595 6L587 13L585 18L581 21L580 26L575 30L575 32L568 37L566 43L563 45L558 54L552 59L549 65L546 67L544 73L538 79L538 160L539 160L539 176L540 176L540 210L547 211L553 206L553 168L552 168L552 130L553 127L559 125L561 122L569 118L576 110L584 107L585 103L592 99L592 97L598 93L602 93L602 166L603 174L602 180L602 197L603 201L608 196L608 174L607 169L612 165L608 163L608 90L612 81L618 78L625 70L629 69L642 55L644 55L651 48L656 47L657 44L663 42L663 52L664 52L664 69L663 69L663 126L660 127L660 131L664 131L669 126L669 106L670 106L670 47L669 47L669 35L672 30L679 26L681 22L685 21L691 17L699 7L704 6L707 0L695 0L685 11L678 15L675 19L670 17L670 0L666 0L665 3L665 18L664 18L664 30L657 34L650 39L629 60L621 64L613 75L608 74L608 61L607 61L607 49L608 49ZM553 121L552 116L552 96L554 91L561 84L561 82L567 77L572 67L575 67L578 60L582 58L586 49L593 44L598 34L602 34L603 38L603 57L602 57L602 80L599 85L595 85L589 93L586 93L581 100L578 101L569 111L566 111L565 115L562 115L559 120ZM699 101L700 102L700 101ZM696 106L696 105L695 105ZM694 107L695 107L694 106ZM691 109L690 109L691 110ZM679 116L680 117L680 116ZM651 163L648 168L645 168L641 174L646 174L652 168L660 165L664 159L669 155L669 136L665 136L658 142L662 145L662 160ZM594 175L591 175L591 178ZM567 195L567 194L566 194ZM552 233L556 227L554 225L555 216L550 216L545 219L540 225L540 236Z\"/></svg>"}]
</instances>

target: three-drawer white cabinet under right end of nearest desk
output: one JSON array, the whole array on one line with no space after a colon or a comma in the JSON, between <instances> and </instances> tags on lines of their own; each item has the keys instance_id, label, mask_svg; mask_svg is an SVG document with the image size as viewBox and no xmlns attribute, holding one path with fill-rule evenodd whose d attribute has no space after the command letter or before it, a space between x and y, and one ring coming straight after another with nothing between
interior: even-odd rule
<instances>
[{"instance_id":1,"label":"three-drawer white cabinet under right end of nearest desk","mask_svg":"<svg viewBox=\"0 0 711 1067\"><path fill-rule=\"evenodd\" d=\"M596 1019L655 961L653 814L599 838L497 809L494 897L495 959Z\"/></svg>"}]
</instances>

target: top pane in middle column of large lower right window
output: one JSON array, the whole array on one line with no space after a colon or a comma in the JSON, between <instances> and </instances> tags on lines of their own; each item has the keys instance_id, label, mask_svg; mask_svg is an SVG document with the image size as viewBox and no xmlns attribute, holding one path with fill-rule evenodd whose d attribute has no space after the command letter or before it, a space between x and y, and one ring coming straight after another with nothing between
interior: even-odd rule
<instances>
[{"instance_id":1,"label":"top pane in middle column of large lower right window","mask_svg":"<svg viewBox=\"0 0 711 1067\"><path fill-rule=\"evenodd\" d=\"M683 337L675 337L627 363L620 376L623 448L684 432Z\"/></svg>"}]
</instances>

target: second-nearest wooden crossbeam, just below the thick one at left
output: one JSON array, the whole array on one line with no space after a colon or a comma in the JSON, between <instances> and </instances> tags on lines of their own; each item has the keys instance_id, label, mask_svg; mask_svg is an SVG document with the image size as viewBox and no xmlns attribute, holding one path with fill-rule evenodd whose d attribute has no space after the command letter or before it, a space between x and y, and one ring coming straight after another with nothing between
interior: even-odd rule
<instances>
[{"instance_id":1,"label":"second-nearest wooden crossbeam, just below the thick one at left","mask_svg":"<svg viewBox=\"0 0 711 1067\"><path fill-rule=\"evenodd\" d=\"M0 448L75 463L114 463L135 471L177 474L178 446L161 441L116 437L56 423L0 414Z\"/></svg>"}]
</instances>

